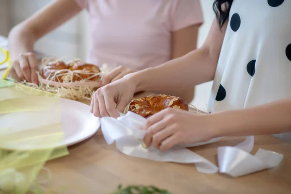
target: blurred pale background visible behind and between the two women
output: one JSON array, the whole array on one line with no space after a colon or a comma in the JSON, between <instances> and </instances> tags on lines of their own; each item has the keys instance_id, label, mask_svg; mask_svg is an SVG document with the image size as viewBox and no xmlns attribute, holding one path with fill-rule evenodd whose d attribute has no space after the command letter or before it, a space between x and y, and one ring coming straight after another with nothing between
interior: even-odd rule
<instances>
[{"instance_id":1,"label":"blurred pale background visible behind and between the two women","mask_svg":"<svg viewBox=\"0 0 291 194\"><path fill-rule=\"evenodd\" d=\"M5 46L5 37L16 24L31 16L50 1L52 0L0 0L0 47ZM200 2L205 21L199 31L198 47L203 44L214 19L213 0L200 0ZM77 57L85 60L90 48L89 32L89 17L83 10L74 19L40 39L35 45L35 50L46 55ZM206 111L211 86L212 81L196 86L192 104L202 111Z\"/></svg>"}]
</instances>

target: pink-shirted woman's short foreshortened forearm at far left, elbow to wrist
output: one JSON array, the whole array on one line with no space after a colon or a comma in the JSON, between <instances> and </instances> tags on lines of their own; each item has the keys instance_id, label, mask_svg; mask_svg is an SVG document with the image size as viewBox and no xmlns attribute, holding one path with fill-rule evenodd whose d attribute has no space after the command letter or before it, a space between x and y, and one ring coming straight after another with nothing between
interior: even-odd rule
<instances>
[{"instance_id":1,"label":"pink-shirted woman's short foreshortened forearm at far left, elbow to wrist","mask_svg":"<svg viewBox=\"0 0 291 194\"><path fill-rule=\"evenodd\" d=\"M20 53L32 52L35 38L33 33L22 26L16 26L8 36L8 47L12 60Z\"/></svg>"}]
</instances>

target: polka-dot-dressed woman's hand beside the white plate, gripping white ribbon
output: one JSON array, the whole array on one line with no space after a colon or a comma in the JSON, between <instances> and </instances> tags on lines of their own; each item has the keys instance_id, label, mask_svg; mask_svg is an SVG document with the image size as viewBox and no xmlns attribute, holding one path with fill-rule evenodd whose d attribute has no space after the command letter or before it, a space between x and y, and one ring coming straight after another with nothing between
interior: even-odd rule
<instances>
[{"instance_id":1,"label":"polka-dot-dressed woman's hand beside the white plate, gripping white ribbon","mask_svg":"<svg viewBox=\"0 0 291 194\"><path fill-rule=\"evenodd\" d=\"M91 101L91 113L97 117L112 116L117 118L133 98L136 81L125 77L99 88Z\"/></svg>"}]
</instances>

